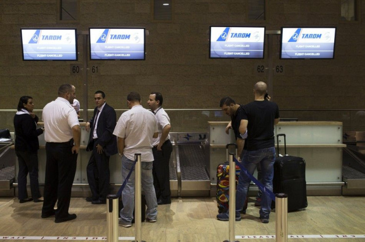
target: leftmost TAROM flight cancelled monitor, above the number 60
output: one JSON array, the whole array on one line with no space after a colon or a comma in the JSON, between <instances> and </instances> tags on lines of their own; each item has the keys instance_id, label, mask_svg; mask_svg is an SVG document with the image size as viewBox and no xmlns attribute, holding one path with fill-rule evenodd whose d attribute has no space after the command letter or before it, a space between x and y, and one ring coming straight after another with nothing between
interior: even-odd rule
<instances>
[{"instance_id":1,"label":"leftmost TAROM flight cancelled monitor, above the number 60","mask_svg":"<svg viewBox=\"0 0 365 242\"><path fill-rule=\"evenodd\" d=\"M76 29L22 28L23 60L77 60Z\"/></svg>"}]
</instances>

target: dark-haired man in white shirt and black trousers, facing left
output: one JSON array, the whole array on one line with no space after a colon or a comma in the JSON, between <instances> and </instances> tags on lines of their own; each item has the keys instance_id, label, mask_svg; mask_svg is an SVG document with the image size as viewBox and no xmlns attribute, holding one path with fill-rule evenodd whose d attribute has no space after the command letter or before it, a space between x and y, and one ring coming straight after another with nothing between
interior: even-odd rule
<instances>
[{"instance_id":1,"label":"dark-haired man in white shirt and black trousers, facing left","mask_svg":"<svg viewBox=\"0 0 365 242\"><path fill-rule=\"evenodd\" d=\"M170 190L170 156L173 145L170 141L170 118L162 108L163 97L159 92L152 92L147 101L148 107L156 117L158 138L153 139L153 185L155 186L158 205L171 203Z\"/></svg>"}]
</instances>

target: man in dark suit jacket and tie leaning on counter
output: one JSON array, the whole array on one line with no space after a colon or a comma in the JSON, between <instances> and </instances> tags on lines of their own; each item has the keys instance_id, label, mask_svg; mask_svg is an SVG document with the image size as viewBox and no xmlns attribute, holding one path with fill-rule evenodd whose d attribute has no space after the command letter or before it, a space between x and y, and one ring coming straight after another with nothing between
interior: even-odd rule
<instances>
[{"instance_id":1,"label":"man in dark suit jacket and tie leaning on counter","mask_svg":"<svg viewBox=\"0 0 365 242\"><path fill-rule=\"evenodd\" d=\"M92 151L86 167L92 196L87 197L86 201L92 204L106 204L110 191L109 158L118 153L117 137L113 134L117 114L114 108L106 103L103 91L96 91L94 99L94 115L85 126L86 131L90 130L86 151Z\"/></svg>"}]
</instances>

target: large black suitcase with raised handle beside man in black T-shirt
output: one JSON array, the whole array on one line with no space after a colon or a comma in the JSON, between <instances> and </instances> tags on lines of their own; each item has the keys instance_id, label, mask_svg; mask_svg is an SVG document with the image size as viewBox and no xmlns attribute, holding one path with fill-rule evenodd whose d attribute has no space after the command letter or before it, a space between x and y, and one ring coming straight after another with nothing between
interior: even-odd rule
<instances>
[{"instance_id":1,"label":"large black suitcase with raised handle beside man in black T-shirt","mask_svg":"<svg viewBox=\"0 0 365 242\"><path fill-rule=\"evenodd\" d=\"M285 156L279 156L279 136L284 136ZM274 163L274 193L286 193L288 195L288 211L304 209L307 207L305 161L301 157L289 156L286 147L286 135L278 134L278 157ZM275 207L273 202L272 207Z\"/></svg>"}]
</instances>

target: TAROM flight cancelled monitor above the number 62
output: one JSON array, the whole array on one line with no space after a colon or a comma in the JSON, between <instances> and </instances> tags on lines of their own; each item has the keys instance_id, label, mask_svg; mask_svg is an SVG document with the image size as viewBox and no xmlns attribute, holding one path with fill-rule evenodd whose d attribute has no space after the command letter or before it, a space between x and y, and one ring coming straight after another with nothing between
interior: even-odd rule
<instances>
[{"instance_id":1,"label":"TAROM flight cancelled monitor above the number 62","mask_svg":"<svg viewBox=\"0 0 365 242\"><path fill-rule=\"evenodd\" d=\"M265 27L210 26L209 58L263 59Z\"/></svg>"}]
</instances>

